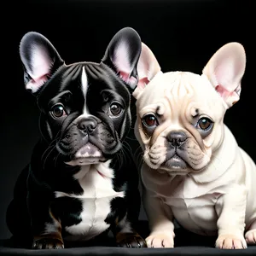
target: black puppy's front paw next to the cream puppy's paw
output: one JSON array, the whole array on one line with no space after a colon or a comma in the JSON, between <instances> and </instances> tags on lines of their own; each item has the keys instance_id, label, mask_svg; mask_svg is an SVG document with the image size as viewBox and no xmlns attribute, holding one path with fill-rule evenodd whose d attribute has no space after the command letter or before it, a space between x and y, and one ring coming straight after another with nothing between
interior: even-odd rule
<instances>
[{"instance_id":1,"label":"black puppy's front paw next to the cream puppy's paw","mask_svg":"<svg viewBox=\"0 0 256 256\"><path fill-rule=\"evenodd\" d=\"M147 247L142 236L134 233L119 234L117 236L118 247L142 248Z\"/></svg>"}]
</instances>

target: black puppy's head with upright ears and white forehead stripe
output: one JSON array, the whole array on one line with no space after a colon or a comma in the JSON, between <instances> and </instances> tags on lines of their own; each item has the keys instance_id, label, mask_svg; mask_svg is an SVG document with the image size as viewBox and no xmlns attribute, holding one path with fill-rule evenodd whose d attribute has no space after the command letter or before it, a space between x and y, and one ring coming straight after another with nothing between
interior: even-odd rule
<instances>
[{"instance_id":1,"label":"black puppy's head with upright ears and white forehead stripe","mask_svg":"<svg viewBox=\"0 0 256 256\"><path fill-rule=\"evenodd\" d=\"M141 40L126 27L100 63L66 65L47 38L28 32L20 42L26 90L37 96L40 131L70 165L111 159L131 126Z\"/></svg>"}]
</instances>

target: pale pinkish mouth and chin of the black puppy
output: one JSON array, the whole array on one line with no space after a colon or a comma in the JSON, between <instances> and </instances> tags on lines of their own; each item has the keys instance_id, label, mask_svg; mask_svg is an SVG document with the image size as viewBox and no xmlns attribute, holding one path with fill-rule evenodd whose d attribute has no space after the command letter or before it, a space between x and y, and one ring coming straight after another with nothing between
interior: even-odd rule
<instances>
[{"instance_id":1,"label":"pale pinkish mouth and chin of the black puppy","mask_svg":"<svg viewBox=\"0 0 256 256\"><path fill-rule=\"evenodd\" d=\"M74 154L73 160L67 162L67 165L71 166L84 166L96 164L105 161L105 157L102 154L102 150L97 148L92 143L86 143L80 148L76 154Z\"/></svg>"}]
</instances>

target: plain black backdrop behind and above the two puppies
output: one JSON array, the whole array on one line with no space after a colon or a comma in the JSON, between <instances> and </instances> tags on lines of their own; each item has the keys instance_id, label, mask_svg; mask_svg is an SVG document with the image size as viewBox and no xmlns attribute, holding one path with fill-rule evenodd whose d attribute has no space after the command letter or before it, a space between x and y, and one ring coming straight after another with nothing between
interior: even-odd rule
<instances>
[{"instance_id":1,"label":"plain black backdrop behind and above the two puppies","mask_svg":"<svg viewBox=\"0 0 256 256\"><path fill-rule=\"evenodd\" d=\"M223 44L244 45L247 69L241 100L230 108L225 123L240 146L256 160L255 148L255 9L253 0L34 0L1 3L0 90L0 238L7 238L5 211L15 179L37 142L38 108L24 89L19 56L22 36L44 34L67 64L100 61L119 29L131 26L153 50L163 72L201 73ZM255 195L256 196L256 195ZM145 218L142 212L141 218Z\"/></svg>"}]
</instances>

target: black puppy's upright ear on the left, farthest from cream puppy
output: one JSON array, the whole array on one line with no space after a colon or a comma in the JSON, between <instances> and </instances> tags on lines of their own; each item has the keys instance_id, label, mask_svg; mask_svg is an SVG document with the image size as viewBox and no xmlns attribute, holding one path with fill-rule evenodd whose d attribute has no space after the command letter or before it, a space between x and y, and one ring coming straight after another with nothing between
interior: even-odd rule
<instances>
[{"instance_id":1,"label":"black puppy's upright ear on the left, farthest from cream puppy","mask_svg":"<svg viewBox=\"0 0 256 256\"><path fill-rule=\"evenodd\" d=\"M33 94L64 64L55 47L38 32L28 32L23 36L20 59L24 67L26 90L31 90Z\"/></svg>"}]
</instances>

